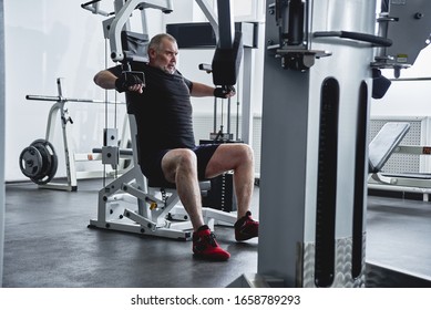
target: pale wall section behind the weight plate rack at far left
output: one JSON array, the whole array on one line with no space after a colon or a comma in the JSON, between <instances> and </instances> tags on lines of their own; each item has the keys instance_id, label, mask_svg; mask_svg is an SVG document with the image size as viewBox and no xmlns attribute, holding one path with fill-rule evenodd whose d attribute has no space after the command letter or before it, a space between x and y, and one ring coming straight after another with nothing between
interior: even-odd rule
<instances>
[{"instance_id":1,"label":"pale wall section behind the weight plate rack at far left","mask_svg":"<svg viewBox=\"0 0 431 310\"><path fill-rule=\"evenodd\" d=\"M92 82L104 68L100 16L83 10L80 0L6 0L6 180L25 179L19 169L21 151L44 138L52 102L27 101L27 94L57 95L57 78L64 78L66 97L103 99ZM68 104L74 121L73 145L89 152L100 146L103 105ZM59 122L60 124L60 122ZM61 131L54 146L62 156ZM62 165L59 174L64 175Z\"/></svg>"}]
</instances>

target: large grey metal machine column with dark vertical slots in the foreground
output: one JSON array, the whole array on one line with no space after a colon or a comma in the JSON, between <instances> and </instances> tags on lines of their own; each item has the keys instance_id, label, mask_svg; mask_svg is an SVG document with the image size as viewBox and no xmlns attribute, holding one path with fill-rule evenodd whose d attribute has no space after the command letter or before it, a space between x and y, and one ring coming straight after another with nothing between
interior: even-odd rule
<instances>
[{"instance_id":1,"label":"large grey metal machine column with dark vertical slots in the foreground","mask_svg":"<svg viewBox=\"0 0 431 310\"><path fill-rule=\"evenodd\" d=\"M295 16L295 6L304 16ZM269 286L268 279L285 287L365 286L373 49L314 33L373 34L374 11L374 1L267 1L258 276ZM274 45L295 40L328 53L309 69L286 65L289 58L280 61Z\"/></svg>"}]
</instances>

